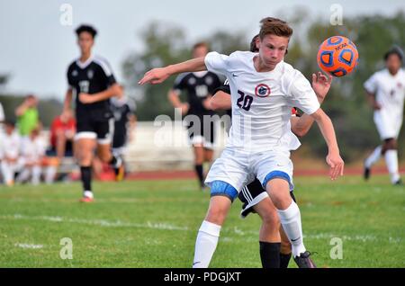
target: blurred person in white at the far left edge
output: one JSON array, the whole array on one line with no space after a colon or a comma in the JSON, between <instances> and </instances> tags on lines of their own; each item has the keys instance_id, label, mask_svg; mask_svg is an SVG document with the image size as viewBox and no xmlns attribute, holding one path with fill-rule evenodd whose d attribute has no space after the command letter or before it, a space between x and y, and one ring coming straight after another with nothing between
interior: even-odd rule
<instances>
[{"instance_id":1,"label":"blurred person in white at the far left edge","mask_svg":"<svg viewBox=\"0 0 405 286\"><path fill-rule=\"evenodd\" d=\"M21 138L15 131L14 122L4 122L4 134L0 138L0 161L4 184L14 185L14 174L18 168Z\"/></svg>"}]
</instances>

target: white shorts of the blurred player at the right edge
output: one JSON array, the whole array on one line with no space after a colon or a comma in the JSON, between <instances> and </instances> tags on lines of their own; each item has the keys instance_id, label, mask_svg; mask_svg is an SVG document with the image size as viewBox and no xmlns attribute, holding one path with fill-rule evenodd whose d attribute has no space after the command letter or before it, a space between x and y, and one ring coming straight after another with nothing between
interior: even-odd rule
<instances>
[{"instance_id":1,"label":"white shorts of the blurred player at the right edge","mask_svg":"<svg viewBox=\"0 0 405 286\"><path fill-rule=\"evenodd\" d=\"M374 123L382 140L397 139L400 135L402 115L395 116L388 112L377 111L374 112Z\"/></svg>"}]
</instances>

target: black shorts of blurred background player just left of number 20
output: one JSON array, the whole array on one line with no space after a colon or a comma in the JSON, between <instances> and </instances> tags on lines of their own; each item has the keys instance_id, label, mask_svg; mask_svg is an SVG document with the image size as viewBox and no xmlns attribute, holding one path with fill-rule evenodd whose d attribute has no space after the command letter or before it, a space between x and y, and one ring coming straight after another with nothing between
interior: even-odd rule
<instances>
[{"instance_id":1,"label":"black shorts of blurred background player just left of number 20","mask_svg":"<svg viewBox=\"0 0 405 286\"><path fill-rule=\"evenodd\" d=\"M215 122L207 119L209 116L205 122L202 116L193 116L185 122L190 143L192 145L202 144L203 147L212 149L215 142Z\"/></svg>"}]
</instances>

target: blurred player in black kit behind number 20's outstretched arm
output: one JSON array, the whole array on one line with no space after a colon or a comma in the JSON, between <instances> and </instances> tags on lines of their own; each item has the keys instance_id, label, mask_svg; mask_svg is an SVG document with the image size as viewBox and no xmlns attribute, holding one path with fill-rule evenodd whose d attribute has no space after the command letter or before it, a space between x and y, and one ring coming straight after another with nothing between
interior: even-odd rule
<instances>
[{"instance_id":1,"label":"blurred player in black kit behind number 20's outstretched arm","mask_svg":"<svg viewBox=\"0 0 405 286\"><path fill-rule=\"evenodd\" d=\"M208 53L208 45L204 42L193 46L193 58L205 57ZM168 93L168 99L175 108L180 108L183 115L195 115L200 120L200 127L194 126L195 122L189 121L188 135L194 152L195 173L198 176L200 186L204 188L202 164L211 162L213 156L214 124L205 123L204 115L213 115L210 109L210 99L214 90L220 86L220 78L209 72L185 73L177 76L175 85ZM187 103L182 103L179 95L187 94Z\"/></svg>"}]
</instances>

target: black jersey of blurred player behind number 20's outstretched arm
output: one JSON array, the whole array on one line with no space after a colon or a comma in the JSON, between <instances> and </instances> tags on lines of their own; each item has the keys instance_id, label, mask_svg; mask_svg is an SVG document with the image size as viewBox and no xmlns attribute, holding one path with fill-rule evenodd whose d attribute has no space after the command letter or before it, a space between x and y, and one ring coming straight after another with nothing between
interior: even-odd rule
<instances>
[{"instance_id":1,"label":"black jersey of blurred player behind number 20's outstretched arm","mask_svg":"<svg viewBox=\"0 0 405 286\"><path fill-rule=\"evenodd\" d=\"M190 105L188 114L202 116L212 114L202 105L208 95L212 95L220 86L220 78L211 72L184 73L175 79L173 89L181 93L187 93L187 102Z\"/></svg>"}]
</instances>

